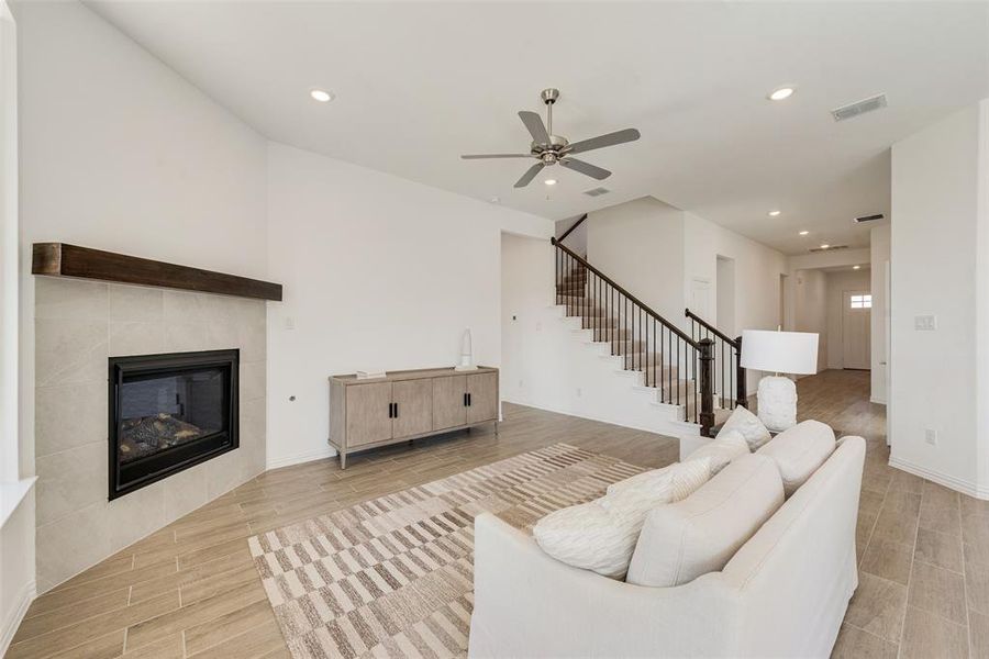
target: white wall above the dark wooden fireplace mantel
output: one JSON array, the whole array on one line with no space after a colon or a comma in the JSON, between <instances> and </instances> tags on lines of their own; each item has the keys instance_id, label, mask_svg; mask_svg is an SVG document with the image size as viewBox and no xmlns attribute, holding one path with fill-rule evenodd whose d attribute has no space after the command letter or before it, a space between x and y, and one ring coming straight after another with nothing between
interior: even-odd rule
<instances>
[{"instance_id":1,"label":"white wall above the dark wooden fireplace mantel","mask_svg":"<svg viewBox=\"0 0 989 659\"><path fill-rule=\"evenodd\" d=\"M264 277L267 147L255 131L82 4L26 2L14 12L19 454L21 473L29 476L35 473L36 453L32 243L66 242ZM92 384L66 383L66 391L77 386ZM43 545L40 539L38 554ZM4 530L4 551L9 546ZM46 546L49 554L57 549ZM49 577L42 588L65 576Z\"/></svg>"}]
</instances>

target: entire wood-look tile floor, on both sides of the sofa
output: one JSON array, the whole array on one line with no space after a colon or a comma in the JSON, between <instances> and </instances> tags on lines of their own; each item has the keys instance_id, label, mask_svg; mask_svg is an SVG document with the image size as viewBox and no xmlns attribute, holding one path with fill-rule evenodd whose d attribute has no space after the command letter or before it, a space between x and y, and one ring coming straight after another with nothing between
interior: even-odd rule
<instances>
[{"instance_id":1,"label":"entire wood-look tile floor, on both sides of the sofa","mask_svg":"<svg viewBox=\"0 0 989 659\"><path fill-rule=\"evenodd\" d=\"M800 417L868 439L860 585L835 656L989 657L989 503L887 466L885 410L868 373L798 384ZM246 538L558 442L660 467L674 439L504 405L505 420L269 471L40 596L8 657L287 657ZM969 634L969 630L971 634Z\"/></svg>"}]
</instances>

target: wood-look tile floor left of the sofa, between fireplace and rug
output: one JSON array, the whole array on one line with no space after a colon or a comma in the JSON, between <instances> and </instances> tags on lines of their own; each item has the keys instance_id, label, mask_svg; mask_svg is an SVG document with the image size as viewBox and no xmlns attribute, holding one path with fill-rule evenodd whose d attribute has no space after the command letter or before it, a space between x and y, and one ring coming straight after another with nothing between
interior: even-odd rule
<instances>
[{"instance_id":1,"label":"wood-look tile floor left of the sofa, between fireplace and rug","mask_svg":"<svg viewBox=\"0 0 989 659\"><path fill-rule=\"evenodd\" d=\"M268 471L41 595L7 657L288 657L247 550L257 533L567 443L662 467L675 439L504 405L504 421Z\"/></svg>"}]
</instances>

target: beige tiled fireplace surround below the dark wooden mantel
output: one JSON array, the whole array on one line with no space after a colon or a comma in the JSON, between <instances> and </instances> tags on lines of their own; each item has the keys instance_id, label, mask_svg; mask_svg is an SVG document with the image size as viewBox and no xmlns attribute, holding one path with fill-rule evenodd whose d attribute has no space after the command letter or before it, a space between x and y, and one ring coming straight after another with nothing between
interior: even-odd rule
<instances>
[{"instance_id":1,"label":"beige tiled fireplace surround below the dark wooden mantel","mask_svg":"<svg viewBox=\"0 0 989 659\"><path fill-rule=\"evenodd\" d=\"M37 581L44 592L265 469L265 302L37 277ZM241 349L236 450L108 501L111 356Z\"/></svg>"}]
</instances>

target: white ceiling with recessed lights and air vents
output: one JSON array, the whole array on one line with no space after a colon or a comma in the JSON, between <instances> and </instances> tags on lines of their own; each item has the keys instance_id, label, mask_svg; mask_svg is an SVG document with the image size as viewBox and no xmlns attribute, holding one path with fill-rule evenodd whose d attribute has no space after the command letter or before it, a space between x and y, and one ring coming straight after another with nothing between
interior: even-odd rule
<instances>
[{"instance_id":1,"label":"white ceiling with recessed lights and air vents","mask_svg":"<svg viewBox=\"0 0 989 659\"><path fill-rule=\"evenodd\" d=\"M273 139L554 220L652 194L788 254L867 245L889 146L989 96L986 2L87 4ZM531 161L458 158L526 149L549 86L556 133L642 132L584 156L610 179L514 190Z\"/></svg>"}]
</instances>

